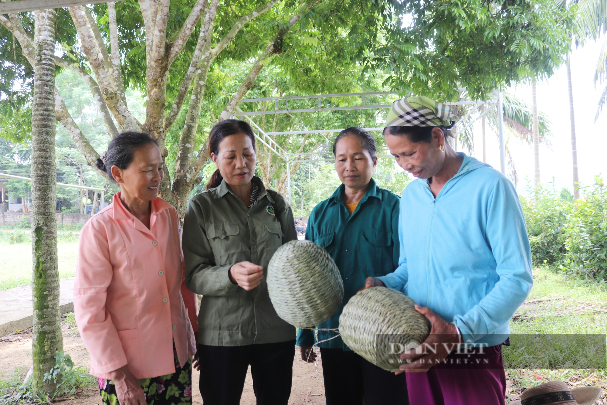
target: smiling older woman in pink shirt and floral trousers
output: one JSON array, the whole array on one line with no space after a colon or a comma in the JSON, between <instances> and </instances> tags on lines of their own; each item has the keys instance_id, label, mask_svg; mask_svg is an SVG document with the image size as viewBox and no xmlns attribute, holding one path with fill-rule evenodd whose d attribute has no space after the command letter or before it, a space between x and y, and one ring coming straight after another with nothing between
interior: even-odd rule
<instances>
[{"instance_id":1,"label":"smiling older woman in pink shirt and floral trousers","mask_svg":"<svg viewBox=\"0 0 607 405\"><path fill-rule=\"evenodd\" d=\"M185 287L177 211L158 198L153 138L124 132L97 167L120 185L80 233L74 311L104 404L192 403L197 298Z\"/></svg>"}]
</instances>

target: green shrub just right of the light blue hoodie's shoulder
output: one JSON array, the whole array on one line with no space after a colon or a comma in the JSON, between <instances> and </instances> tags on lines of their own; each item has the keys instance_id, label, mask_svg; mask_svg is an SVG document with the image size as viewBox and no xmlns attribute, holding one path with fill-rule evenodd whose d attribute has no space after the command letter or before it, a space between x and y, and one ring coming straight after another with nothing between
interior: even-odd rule
<instances>
[{"instance_id":1,"label":"green shrub just right of the light blue hoodie's shoulder","mask_svg":"<svg viewBox=\"0 0 607 405\"><path fill-rule=\"evenodd\" d=\"M521 205L527 223L527 234L535 266L558 264L565 254L564 228L569 203L561 199L554 189L532 189L531 197L521 197ZM562 192L561 192L562 194Z\"/></svg>"}]
</instances>

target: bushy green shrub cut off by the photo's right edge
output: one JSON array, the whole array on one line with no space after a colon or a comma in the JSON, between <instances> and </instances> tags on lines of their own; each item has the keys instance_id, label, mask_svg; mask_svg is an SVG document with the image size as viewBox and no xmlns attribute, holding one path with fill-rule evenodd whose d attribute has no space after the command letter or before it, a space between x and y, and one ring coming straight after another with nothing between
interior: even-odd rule
<instances>
[{"instance_id":1,"label":"bushy green shrub cut off by the photo's right edge","mask_svg":"<svg viewBox=\"0 0 607 405\"><path fill-rule=\"evenodd\" d=\"M586 196L573 203L565 229L567 273L607 280L607 188L600 177Z\"/></svg>"}]
</instances>

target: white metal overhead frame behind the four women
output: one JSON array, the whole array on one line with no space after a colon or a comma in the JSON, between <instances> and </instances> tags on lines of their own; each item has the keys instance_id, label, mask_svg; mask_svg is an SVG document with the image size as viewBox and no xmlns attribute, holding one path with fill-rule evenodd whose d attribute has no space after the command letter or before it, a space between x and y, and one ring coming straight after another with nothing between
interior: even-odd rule
<instances>
[{"instance_id":1,"label":"white metal overhead frame behind the four women","mask_svg":"<svg viewBox=\"0 0 607 405\"><path fill-rule=\"evenodd\" d=\"M240 107L237 107L237 111L234 112L234 116L240 116L245 118L251 126L253 126L253 131L256 132L255 137L258 141L263 143L263 145L270 148L270 151L280 157L287 163L287 189L288 189L288 202L291 204L291 163L303 163L303 162L317 162L318 159L311 159L311 156L316 154L316 152L310 153L289 153L282 149L280 145L276 143L271 137L271 135L299 135L299 134L330 134L334 132L341 132L344 129L316 129L316 130L306 130L306 131L280 131L280 132L264 132L263 129L259 128L257 123L253 121L251 118L255 115L266 115L266 114L292 114L297 112L321 112L321 111L348 111L348 110L361 110L361 109L385 109L392 107L392 104L366 104L365 96L368 95L386 95L386 94L396 94L396 92L362 92L362 93L337 93L337 94L317 94L317 95L304 95L304 96L286 96L286 97L267 97L267 98L246 98L240 103L259 103L260 101L274 101L274 110L268 111L242 111ZM361 104L359 106L344 106L344 107L322 107L322 100L324 98L334 98L334 97L360 97ZM289 108L289 100L310 100L316 98L318 100L318 106L315 108L303 108L303 109L290 109ZM280 103L285 104L285 108L280 108ZM463 117L461 117L455 125L462 120L470 117L473 113L477 112L481 106L486 106L483 112L475 117L473 120L466 123L466 126L463 128L458 128L457 132L463 132L473 123L482 118L487 111L493 109L493 107L497 106L498 109L498 124L499 124L499 138L500 138L500 171L503 174L506 174L506 143L504 142L504 117L503 117L503 105L502 105L502 96L500 92L500 87L497 89L497 100L491 101L455 101L455 102L447 102L444 103L447 106L461 106L461 105L469 105L474 106L470 111L466 113ZM501 112L501 114L500 114ZM384 128L363 128L365 131L384 131ZM307 158L302 159L302 155L307 156ZM291 157L296 157L296 160L291 159ZM391 155L381 155L378 158L387 158L392 157ZM327 161L328 159L322 159L323 161Z\"/></svg>"}]
</instances>

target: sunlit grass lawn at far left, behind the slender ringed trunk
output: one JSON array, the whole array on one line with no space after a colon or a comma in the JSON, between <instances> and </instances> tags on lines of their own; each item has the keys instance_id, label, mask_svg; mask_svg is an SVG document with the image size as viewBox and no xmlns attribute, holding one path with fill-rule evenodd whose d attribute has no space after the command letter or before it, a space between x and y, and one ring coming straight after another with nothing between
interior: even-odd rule
<instances>
[{"instance_id":1,"label":"sunlit grass lawn at far left, behind the slender ringed trunk","mask_svg":"<svg viewBox=\"0 0 607 405\"><path fill-rule=\"evenodd\" d=\"M10 243L10 238L13 242ZM70 233L58 237L59 277L76 274L78 236ZM32 282L32 238L26 231L0 231L0 290Z\"/></svg>"}]
</instances>

